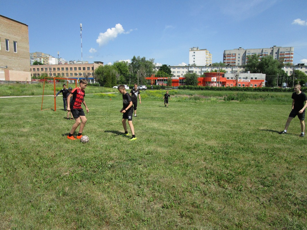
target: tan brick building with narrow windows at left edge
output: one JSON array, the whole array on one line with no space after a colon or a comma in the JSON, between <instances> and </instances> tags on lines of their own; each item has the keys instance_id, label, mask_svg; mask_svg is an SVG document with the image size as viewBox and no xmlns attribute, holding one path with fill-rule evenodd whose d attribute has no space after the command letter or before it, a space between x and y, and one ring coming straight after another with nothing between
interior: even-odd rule
<instances>
[{"instance_id":1,"label":"tan brick building with narrow windows at left edge","mask_svg":"<svg viewBox=\"0 0 307 230\"><path fill-rule=\"evenodd\" d=\"M31 81L28 25L0 15L0 80Z\"/></svg>"}]
</instances>

